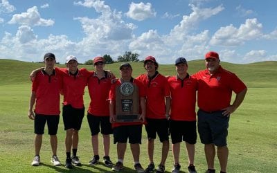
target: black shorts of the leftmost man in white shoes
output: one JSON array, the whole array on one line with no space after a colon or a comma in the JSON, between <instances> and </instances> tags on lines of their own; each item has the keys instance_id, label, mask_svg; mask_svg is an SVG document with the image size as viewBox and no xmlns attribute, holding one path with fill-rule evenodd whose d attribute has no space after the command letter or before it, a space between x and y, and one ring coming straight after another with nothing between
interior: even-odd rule
<instances>
[{"instance_id":1,"label":"black shorts of the leftmost man in white shoes","mask_svg":"<svg viewBox=\"0 0 277 173\"><path fill-rule=\"evenodd\" d=\"M42 115L35 113L34 127L35 134L44 134L45 123L47 122L48 134L56 135L59 126L60 115Z\"/></svg>"}]
</instances>

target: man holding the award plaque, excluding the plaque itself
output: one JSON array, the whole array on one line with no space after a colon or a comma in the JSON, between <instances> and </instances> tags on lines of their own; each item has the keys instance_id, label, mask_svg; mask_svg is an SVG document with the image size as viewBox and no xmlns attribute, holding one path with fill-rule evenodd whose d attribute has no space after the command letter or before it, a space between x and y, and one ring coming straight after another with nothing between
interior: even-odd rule
<instances>
[{"instance_id":1,"label":"man holding the award plaque, excluding the plaque itself","mask_svg":"<svg viewBox=\"0 0 277 173\"><path fill-rule=\"evenodd\" d=\"M141 133L143 121L145 120L145 88L139 80L132 78L132 66L129 63L120 65L121 78L111 85L109 91L109 116L110 122L114 129L114 144L117 143L118 161L112 170L119 172L123 169L123 160L127 147L127 140L129 139L131 151L134 158L134 168L136 172L144 172L141 163L139 163ZM115 121L115 105L116 105L116 86L123 82L132 82L132 84L139 88L139 103L141 107L141 122L114 122Z\"/></svg>"}]
</instances>

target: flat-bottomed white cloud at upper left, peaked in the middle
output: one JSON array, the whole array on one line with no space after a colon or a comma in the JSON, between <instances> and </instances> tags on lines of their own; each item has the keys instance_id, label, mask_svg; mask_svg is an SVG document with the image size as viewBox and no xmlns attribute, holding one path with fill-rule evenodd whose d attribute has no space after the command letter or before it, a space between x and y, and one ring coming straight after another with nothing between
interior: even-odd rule
<instances>
[{"instance_id":1,"label":"flat-bottomed white cloud at upper left, peaked in the middle","mask_svg":"<svg viewBox=\"0 0 277 173\"><path fill-rule=\"evenodd\" d=\"M22 24L28 26L53 26L54 21L52 19L42 19L37 11L37 7L29 8L27 12L21 14L15 14L8 24Z\"/></svg>"}]
</instances>

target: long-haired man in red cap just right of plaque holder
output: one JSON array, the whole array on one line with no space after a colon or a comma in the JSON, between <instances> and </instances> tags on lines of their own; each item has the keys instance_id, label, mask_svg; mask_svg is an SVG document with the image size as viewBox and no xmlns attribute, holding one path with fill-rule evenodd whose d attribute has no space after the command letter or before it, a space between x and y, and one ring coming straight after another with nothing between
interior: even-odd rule
<instances>
[{"instance_id":1,"label":"long-haired man in red cap just right of plaque holder","mask_svg":"<svg viewBox=\"0 0 277 173\"><path fill-rule=\"evenodd\" d=\"M157 71L159 64L154 57L146 57L143 64L146 73L139 75L136 79L141 81L146 88L145 129L148 134L148 156L150 164L145 172L152 172L154 170L154 140L157 134L160 142L163 143L161 162L157 167L157 172L164 172L169 150L169 124L167 116L170 111L170 90L166 77Z\"/></svg>"}]
</instances>

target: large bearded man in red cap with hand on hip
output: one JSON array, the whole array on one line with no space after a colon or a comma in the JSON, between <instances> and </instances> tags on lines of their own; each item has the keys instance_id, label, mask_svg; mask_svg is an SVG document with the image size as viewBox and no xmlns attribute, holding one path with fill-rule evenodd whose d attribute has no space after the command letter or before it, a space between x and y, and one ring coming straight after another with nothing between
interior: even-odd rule
<instances>
[{"instance_id":1,"label":"large bearded man in red cap with hand on hip","mask_svg":"<svg viewBox=\"0 0 277 173\"><path fill-rule=\"evenodd\" d=\"M205 55L206 69L195 73L198 81L197 104L199 111L198 132L201 142L205 145L208 170L215 172L215 146L222 173L226 172L229 149L226 138L228 135L229 118L238 109L247 93L247 86L237 75L220 66L220 57L216 52ZM232 91L236 94L231 103Z\"/></svg>"}]
</instances>

